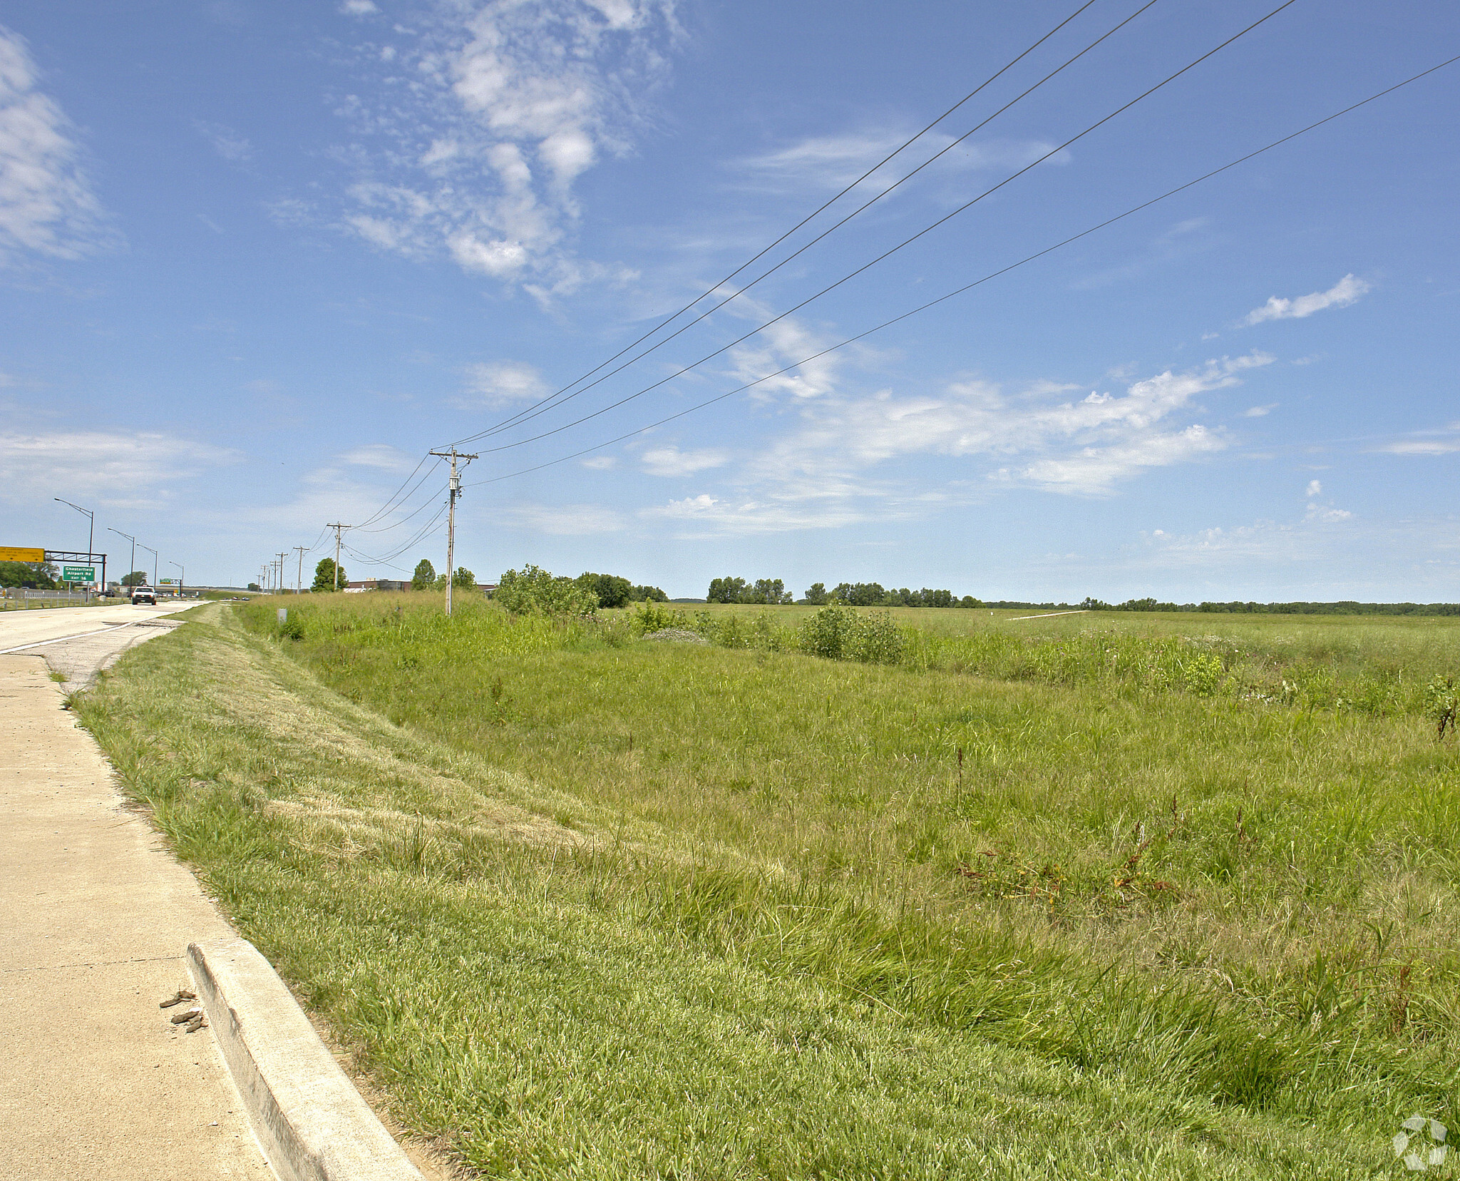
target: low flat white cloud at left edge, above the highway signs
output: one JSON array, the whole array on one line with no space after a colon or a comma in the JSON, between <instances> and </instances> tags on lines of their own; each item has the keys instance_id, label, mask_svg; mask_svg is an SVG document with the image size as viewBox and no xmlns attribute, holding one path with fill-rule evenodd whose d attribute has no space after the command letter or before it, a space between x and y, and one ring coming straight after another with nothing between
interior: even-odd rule
<instances>
[{"instance_id":1,"label":"low flat white cloud at left edge, above the highway signs","mask_svg":"<svg viewBox=\"0 0 1460 1181\"><path fill-rule=\"evenodd\" d=\"M223 447L150 431L0 434L0 489L9 498L67 488L108 504L166 496L165 485L238 463ZM50 493L47 493L50 495Z\"/></svg>"}]
</instances>

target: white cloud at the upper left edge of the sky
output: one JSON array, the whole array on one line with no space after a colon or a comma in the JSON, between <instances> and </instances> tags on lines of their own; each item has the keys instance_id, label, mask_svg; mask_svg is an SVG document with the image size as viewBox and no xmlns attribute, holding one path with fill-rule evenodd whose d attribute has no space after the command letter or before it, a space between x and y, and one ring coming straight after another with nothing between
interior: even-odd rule
<instances>
[{"instance_id":1,"label":"white cloud at the upper left edge of the sky","mask_svg":"<svg viewBox=\"0 0 1460 1181\"><path fill-rule=\"evenodd\" d=\"M22 253L79 258L112 238L74 128L36 82L25 39L0 28L0 261Z\"/></svg>"}]
</instances>

